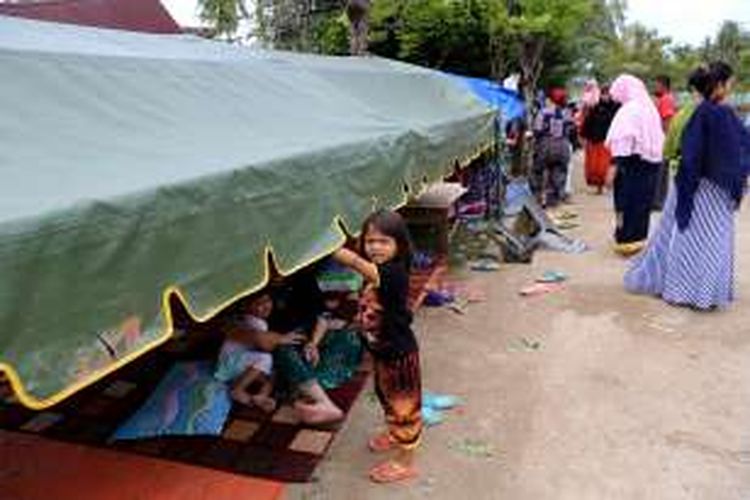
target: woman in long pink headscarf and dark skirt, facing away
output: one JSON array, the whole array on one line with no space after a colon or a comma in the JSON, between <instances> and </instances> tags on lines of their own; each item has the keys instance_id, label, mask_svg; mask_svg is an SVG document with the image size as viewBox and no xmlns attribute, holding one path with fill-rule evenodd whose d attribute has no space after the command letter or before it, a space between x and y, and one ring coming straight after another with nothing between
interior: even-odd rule
<instances>
[{"instance_id":1,"label":"woman in long pink headscarf and dark skirt, facing away","mask_svg":"<svg viewBox=\"0 0 750 500\"><path fill-rule=\"evenodd\" d=\"M659 112L641 80L621 75L612 84L610 94L622 105L605 141L616 169L615 251L633 255L643 249L648 239L651 205L663 161L664 132Z\"/></svg>"}]
</instances>

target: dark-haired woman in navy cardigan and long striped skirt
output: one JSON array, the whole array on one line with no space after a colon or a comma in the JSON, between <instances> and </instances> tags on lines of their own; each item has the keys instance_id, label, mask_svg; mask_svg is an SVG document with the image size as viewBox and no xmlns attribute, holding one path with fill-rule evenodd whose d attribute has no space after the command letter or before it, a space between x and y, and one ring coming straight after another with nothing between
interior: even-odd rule
<instances>
[{"instance_id":1,"label":"dark-haired woman in navy cardigan and long striped skirt","mask_svg":"<svg viewBox=\"0 0 750 500\"><path fill-rule=\"evenodd\" d=\"M732 69L714 63L694 80L703 95L682 134L682 160L659 229L625 287L697 309L734 297L734 212L744 195L750 137L723 104Z\"/></svg>"}]
</instances>

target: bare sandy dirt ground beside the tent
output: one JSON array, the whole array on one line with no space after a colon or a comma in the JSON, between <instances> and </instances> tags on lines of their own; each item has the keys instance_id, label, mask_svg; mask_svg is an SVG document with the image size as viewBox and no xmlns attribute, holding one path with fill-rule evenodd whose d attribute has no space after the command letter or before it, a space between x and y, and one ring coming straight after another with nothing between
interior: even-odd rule
<instances>
[{"instance_id":1,"label":"bare sandy dirt ground beside the tent","mask_svg":"<svg viewBox=\"0 0 750 500\"><path fill-rule=\"evenodd\" d=\"M570 234L590 252L472 273L485 302L419 312L425 388L465 401L426 431L420 478L367 480L378 457L365 442L381 423L368 389L317 482L291 485L289 499L750 498L750 209L738 218L738 300L698 313L626 294L610 198L579 187L573 201ZM569 274L564 290L518 295L548 269Z\"/></svg>"}]
</instances>

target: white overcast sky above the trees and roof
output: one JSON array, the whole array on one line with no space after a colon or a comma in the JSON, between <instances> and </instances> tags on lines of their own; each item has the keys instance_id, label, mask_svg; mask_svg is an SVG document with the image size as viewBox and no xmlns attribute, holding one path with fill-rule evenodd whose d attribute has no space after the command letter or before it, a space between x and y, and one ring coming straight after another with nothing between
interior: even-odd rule
<instances>
[{"instance_id":1,"label":"white overcast sky above the trees and roof","mask_svg":"<svg viewBox=\"0 0 750 500\"><path fill-rule=\"evenodd\" d=\"M377 0L375 0L377 1ZM182 25L197 25L196 0L162 0ZM638 21L675 42L700 44L731 19L750 29L750 0L628 0L628 21Z\"/></svg>"}]
</instances>

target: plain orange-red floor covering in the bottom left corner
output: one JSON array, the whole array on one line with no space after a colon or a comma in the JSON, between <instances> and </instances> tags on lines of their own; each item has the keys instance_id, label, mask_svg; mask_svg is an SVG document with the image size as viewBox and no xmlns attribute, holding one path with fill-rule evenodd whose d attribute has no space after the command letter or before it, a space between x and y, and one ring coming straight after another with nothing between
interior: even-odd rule
<instances>
[{"instance_id":1,"label":"plain orange-red floor covering in the bottom left corner","mask_svg":"<svg viewBox=\"0 0 750 500\"><path fill-rule=\"evenodd\" d=\"M0 492L7 500L271 500L284 485L0 430Z\"/></svg>"}]
</instances>

